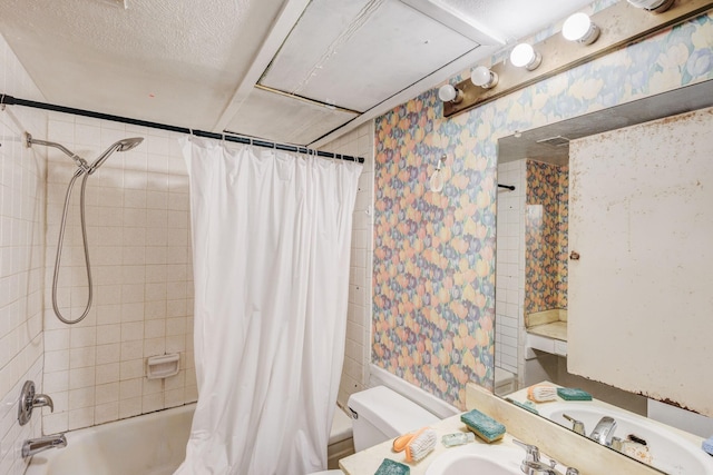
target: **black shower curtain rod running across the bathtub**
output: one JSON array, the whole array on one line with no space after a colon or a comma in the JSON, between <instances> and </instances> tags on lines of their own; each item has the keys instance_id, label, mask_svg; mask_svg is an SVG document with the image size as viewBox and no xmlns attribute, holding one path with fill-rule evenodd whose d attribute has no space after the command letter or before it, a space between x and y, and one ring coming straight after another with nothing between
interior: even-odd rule
<instances>
[{"instance_id":1,"label":"black shower curtain rod running across the bathtub","mask_svg":"<svg viewBox=\"0 0 713 475\"><path fill-rule=\"evenodd\" d=\"M47 102L37 102L33 100L20 99L17 97L0 93L0 106L4 109L6 105L32 107L35 109L74 113L76 116L92 117L95 119L104 119L104 120L111 120L114 122L130 123L133 126L149 127L152 129L168 130L168 131L178 132L178 133L191 133L196 137L219 139L219 140L225 140L225 141L236 142L236 144L247 144L247 145L254 145L256 147L273 148L276 150L295 151L297 154L315 154L318 157L336 158L340 160L358 161L360 164L364 162L363 157L352 157L351 155L332 154L331 151L314 150L311 148L299 147L299 146L289 145L289 144L276 144L276 142L271 142L268 140L238 136L233 132L216 133L216 132L207 132L205 130L188 129L186 127L170 126L167 123L149 122L147 120L131 119L129 117L121 117L121 116L111 116L108 113L95 112L92 110L75 109L74 107L57 106L57 105L47 103Z\"/></svg>"}]
</instances>

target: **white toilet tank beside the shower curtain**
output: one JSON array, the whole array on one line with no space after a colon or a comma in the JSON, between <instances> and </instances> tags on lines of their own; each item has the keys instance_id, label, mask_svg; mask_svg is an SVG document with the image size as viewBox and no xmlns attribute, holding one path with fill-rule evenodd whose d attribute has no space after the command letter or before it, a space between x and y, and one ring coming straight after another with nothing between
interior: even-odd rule
<instances>
[{"instance_id":1,"label":"white toilet tank beside the shower curtain","mask_svg":"<svg viewBox=\"0 0 713 475\"><path fill-rule=\"evenodd\" d=\"M354 393L346 405L352 413L356 452L440 420L385 386Z\"/></svg>"}]
</instances>

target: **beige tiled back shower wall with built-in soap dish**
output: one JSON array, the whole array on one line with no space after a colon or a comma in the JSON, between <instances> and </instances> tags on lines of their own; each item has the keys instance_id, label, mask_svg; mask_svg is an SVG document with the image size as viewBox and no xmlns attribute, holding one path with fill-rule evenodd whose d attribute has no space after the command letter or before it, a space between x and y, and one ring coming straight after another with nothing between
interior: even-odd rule
<instances>
[{"instance_id":1,"label":"beige tiled back shower wall with built-in soap dish","mask_svg":"<svg viewBox=\"0 0 713 475\"><path fill-rule=\"evenodd\" d=\"M43 432L76 429L193 402L193 269L188 228L188 177L178 135L119 122L51 113L47 135L92 161L116 140L144 137L137 148L115 152L88 179L87 237L94 305L68 326L52 311L51 284L69 157L48 149L45 291L45 390L55 413ZM39 147L38 147L39 148ZM87 301L78 182L67 220L58 305L65 318ZM180 373L145 377L145 360L180 354Z\"/></svg>"}]
</instances>

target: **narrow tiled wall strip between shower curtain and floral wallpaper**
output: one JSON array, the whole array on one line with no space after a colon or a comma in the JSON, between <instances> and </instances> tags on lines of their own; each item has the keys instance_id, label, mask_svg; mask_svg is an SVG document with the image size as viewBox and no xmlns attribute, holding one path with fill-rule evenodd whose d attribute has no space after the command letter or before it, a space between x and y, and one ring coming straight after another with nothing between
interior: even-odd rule
<instances>
[{"instance_id":1,"label":"narrow tiled wall strip between shower curtain and floral wallpaper","mask_svg":"<svg viewBox=\"0 0 713 475\"><path fill-rule=\"evenodd\" d=\"M323 150L364 158L359 178L352 231L349 310L344 366L338 403L346 405L352 393L365 389L369 383L371 355L371 274L373 256L372 204L374 182L373 121L345 133L322 147Z\"/></svg>"}]
</instances>

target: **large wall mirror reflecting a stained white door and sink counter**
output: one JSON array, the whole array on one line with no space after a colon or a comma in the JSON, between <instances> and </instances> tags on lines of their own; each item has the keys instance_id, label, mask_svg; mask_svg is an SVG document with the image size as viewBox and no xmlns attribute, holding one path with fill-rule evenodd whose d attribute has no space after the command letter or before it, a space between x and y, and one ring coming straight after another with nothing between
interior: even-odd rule
<instances>
[{"instance_id":1,"label":"large wall mirror reflecting a stained white door and sink counter","mask_svg":"<svg viewBox=\"0 0 713 475\"><path fill-rule=\"evenodd\" d=\"M498 184L515 189L498 192L496 394L668 474L713 474L713 457L701 449L713 435L702 356L713 346L713 142L692 139L713 136L712 106L713 81L705 81L498 144ZM692 122L674 123L678 117ZM661 154L646 156L646 147ZM616 156L619 168L589 166L597 154ZM626 238L609 225L628 227ZM632 258L648 270L616 270L617 263L636 267L624 260ZM647 319L652 305L668 309ZM632 356L628 347L641 350Z\"/></svg>"}]
</instances>

